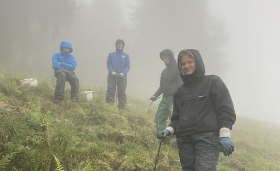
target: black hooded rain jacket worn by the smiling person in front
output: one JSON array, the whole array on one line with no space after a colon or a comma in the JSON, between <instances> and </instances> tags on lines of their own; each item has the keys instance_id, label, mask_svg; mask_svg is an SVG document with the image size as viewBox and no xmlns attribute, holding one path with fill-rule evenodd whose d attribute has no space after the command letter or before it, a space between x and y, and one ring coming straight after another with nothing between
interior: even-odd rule
<instances>
[{"instance_id":1,"label":"black hooded rain jacket worn by the smiling person in front","mask_svg":"<svg viewBox=\"0 0 280 171\"><path fill-rule=\"evenodd\" d=\"M228 89L217 75L205 76L204 64L197 50L187 50L195 59L196 69L193 74L185 75L178 64L184 84L174 94L173 113L168 126L174 128L177 138L198 132L219 131L224 127L231 129L236 116ZM180 53L178 63L181 62Z\"/></svg>"}]
</instances>

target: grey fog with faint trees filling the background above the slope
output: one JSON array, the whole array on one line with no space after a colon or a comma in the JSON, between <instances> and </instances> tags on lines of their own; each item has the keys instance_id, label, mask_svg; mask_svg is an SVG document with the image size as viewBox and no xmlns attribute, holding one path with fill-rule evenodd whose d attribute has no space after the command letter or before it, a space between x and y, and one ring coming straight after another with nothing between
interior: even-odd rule
<instances>
[{"instance_id":1,"label":"grey fog with faint trees filling the background above the slope","mask_svg":"<svg viewBox=\"0 0 280 171\"><path fill-rule=\"evenodd\" d=\"M50 78L52 56L69 41L81 86L106 87L108 54L123 39L126 92L147 100L165 68L159 53L195 48L237 116L280 121L279 0L1 0L0 23L1 69Z\"/></svg>"}]
</instances>

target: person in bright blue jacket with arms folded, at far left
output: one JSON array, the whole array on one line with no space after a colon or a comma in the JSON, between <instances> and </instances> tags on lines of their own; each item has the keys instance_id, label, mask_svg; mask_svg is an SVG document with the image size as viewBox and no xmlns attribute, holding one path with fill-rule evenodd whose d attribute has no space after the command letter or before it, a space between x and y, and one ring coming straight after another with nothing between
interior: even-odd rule
<instances>
[{"instance_id":1,"label":"person in bright blue jacket with arms folded, at far left","mask_svg":"<svg viewBox=\"0 0 280 171\"><path fill-rule=\"evenodd\" d=\"M74 72L77 62L73 55L72 45L69 42L61 42L60 53L53 56L53 69L56 77L55 104L64 98L65 82L71 85L71 100L79 101L79 80Z\"/></svg>"}]
</instances>

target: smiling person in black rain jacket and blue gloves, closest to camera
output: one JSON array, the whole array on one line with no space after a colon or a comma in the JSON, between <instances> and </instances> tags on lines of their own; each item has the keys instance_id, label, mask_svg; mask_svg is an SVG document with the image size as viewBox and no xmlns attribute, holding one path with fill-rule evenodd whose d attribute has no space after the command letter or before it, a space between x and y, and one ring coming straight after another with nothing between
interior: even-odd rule
<instances>
[{"instance_id":1,"label":"smiling person in black rain jacket and blue gloves, closest to camera","mask_svg":"<svg viewBox=\"0 0 280 171\"><path fill-rule=\"evenodd\" d=\"M227 87L217 75L205 75L200 53L182 50L178 67L184 82L175 92L171 123L158 139L176 135L183 171L216 171L219 150L234 150L230 130L236 115Z\"/></svg>"}]
</instances>

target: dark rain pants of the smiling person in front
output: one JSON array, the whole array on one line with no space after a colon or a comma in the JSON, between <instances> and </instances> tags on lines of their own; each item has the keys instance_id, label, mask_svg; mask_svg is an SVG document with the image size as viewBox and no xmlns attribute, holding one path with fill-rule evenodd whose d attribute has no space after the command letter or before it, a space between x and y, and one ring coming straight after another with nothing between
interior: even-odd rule
<instances>
[{"instance_id":1,"label":"dark rain pants of the smiling person in front","mask_svg":"<svg viewBox=\"0 0 280 171\"><path fill-rule=\"evenodd\" d=\"M216 171L220 153L217 131L180 137L177 145L183 171Z\"/></svg>"}]
</instances>

